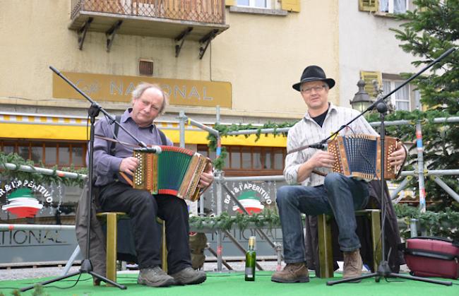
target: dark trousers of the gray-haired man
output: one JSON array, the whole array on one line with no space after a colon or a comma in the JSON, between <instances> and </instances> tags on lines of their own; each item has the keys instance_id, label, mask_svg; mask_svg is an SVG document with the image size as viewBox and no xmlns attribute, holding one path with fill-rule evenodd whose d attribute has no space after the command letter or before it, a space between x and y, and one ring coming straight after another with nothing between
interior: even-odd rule
<instances>
[{"instance_id":1,"label":"dark trousers of the gray-haired man","mask_svg":"<svg viewBox=\"0 0 459 296\"><path fill-rule=\"evenodd\" d=\"M139 268L160 265L159 227L156 217L165 220L167 269L177 273L191 266L189 250L188 208L183 199L170 195L151 195L122 182L101 187L99 203L102 211L125 212L131 218Z\"/></svg>"}]
</instances>

